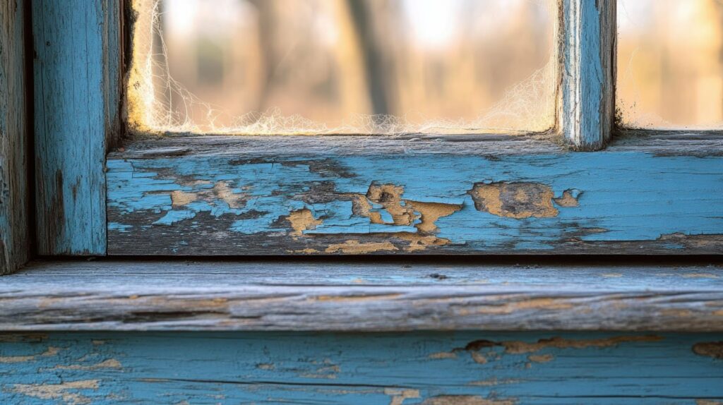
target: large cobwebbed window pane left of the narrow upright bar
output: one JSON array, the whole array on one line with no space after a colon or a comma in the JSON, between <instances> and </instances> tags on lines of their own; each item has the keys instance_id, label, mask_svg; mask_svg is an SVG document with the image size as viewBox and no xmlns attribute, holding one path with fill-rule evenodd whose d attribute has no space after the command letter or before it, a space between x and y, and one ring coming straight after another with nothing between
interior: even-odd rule
<instances>
[{"instance_id":1,"label":"large cobwebbed window pane left of the narrow upright bar","mask_svg":"<svg viewBox=\"0 0 723 405\"><path fill-rule=\"evenodd\" d=\"M151 131L465 134L555 123L555 0L136 0Z\"/></svg>"}]
</instances>

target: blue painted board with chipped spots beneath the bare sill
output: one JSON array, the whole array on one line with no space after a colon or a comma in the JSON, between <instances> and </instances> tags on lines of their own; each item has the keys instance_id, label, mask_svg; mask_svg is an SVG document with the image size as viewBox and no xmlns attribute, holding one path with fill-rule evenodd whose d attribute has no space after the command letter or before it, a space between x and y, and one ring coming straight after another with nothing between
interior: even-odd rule
<instances>
[{"instance_id":1,"label":"blue painted board with chipped spots beneath the bare sill","mask_svg":"<svg viewBox=\"0 0 723 405\"><path fill-rule=\"evenodd\" d=\"M719 404L721 340L607 333L5 334L0 401Z\"/></svg>"}]
</instances>

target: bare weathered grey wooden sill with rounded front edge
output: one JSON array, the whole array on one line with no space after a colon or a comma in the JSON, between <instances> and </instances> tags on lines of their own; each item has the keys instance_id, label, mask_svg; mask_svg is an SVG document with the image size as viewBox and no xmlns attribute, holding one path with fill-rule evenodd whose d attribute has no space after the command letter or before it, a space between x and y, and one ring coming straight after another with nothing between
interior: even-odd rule
<instances>
[{"instance_id":1,"label":"bare weathered grey wooden sill with rounded front edge","mask_svg":"<svg viewBox=\"0 0 723 405\"><path fill-rule=\"evenodd\" d=\"M721 266L36 263L9 331L723 331Z\"/></svg>"}]
</instances>

